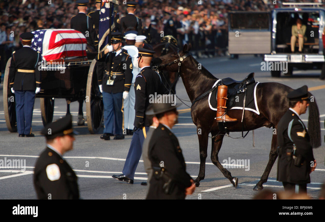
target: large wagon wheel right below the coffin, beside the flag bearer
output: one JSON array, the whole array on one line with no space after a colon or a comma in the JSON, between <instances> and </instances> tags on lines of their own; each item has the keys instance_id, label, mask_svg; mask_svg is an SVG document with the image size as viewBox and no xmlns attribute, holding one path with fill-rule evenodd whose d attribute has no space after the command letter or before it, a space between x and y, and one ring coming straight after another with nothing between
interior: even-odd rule
<instances>
[{"instance_id":1,"label":"large wagon wheel right below the coffin, beside the flag bearer","mask_svg":"<svg viewBox=\"0 0 325 222\"><path fill-rule=\"evenodd\" d=\"M86 88L86 113L87 125L90 133L94 134L101 128L103 121L104 105L99 91L96 75L96 60L90 64Z\"/></svg>"}]
</instances>

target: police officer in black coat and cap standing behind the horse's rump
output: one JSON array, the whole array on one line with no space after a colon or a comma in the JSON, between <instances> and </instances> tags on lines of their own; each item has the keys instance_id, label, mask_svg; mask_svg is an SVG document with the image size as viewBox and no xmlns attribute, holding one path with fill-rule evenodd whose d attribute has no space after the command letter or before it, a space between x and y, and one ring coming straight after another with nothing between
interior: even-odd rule
<instances>
[{"instance_id":1,"label":"police officer in black coat and cap standing behind the horse's rump","mask_svg":"<svg viewBox=\"0 0 325 222\"><path fill-rule=\"evenodd\" d=\"M299 117L310 102L307 86L293 90L287 98L290 108L278 124L277 180L282 182L285 191L306 193L309 173L317 165L307 129Z\"/></svg>"}]
</instances>

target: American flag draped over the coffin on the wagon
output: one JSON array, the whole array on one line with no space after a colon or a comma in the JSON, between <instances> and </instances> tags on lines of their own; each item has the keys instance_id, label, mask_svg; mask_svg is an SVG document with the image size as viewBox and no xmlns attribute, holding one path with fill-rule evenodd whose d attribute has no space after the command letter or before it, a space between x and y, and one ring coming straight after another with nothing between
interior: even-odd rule
<instances>
[{"instance_id":1,"label":"American flag draped over the coffin on the wagon","mask_svg":"<svg viewBox=\"0 0 325 222\"><path fill-rule=\"evenodd\" d=\"M41 29L32 31L32 49L39 51L43 60L86 56L85 35L74 29Z\"/></svg>"}]
</instances>

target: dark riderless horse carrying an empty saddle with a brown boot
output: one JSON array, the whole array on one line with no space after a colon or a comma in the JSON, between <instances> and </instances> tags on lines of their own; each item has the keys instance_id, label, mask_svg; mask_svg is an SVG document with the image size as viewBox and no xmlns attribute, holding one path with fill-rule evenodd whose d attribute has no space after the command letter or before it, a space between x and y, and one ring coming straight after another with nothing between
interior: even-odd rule
<instances>
[{"instance_id":1,"label":"dark riderless horse carrying an empty saddle with a brown boot","mask_svg":"<svg viewBox=\"0 0 325 222\"><path fill-rule=\"evenodd\" d=\"M203 66L201 70L198 69L198 62L188 52L190 49L191 44L188 46L185 45L183 51L179 50L177 52L169 53L167 55L156 58L154 65L157 65L156 68L160 70L176 72L178 70L178 64L180 62L180 76L182 77L188 97L191 101L193 101L204 92L209 91L212 88L213 84L216 82L217 78L214 77ZM245 124L243 130L249 131L258 129L263 126L266 126L268 128L273 127L273 129L277 129L280 118L289 108L289 100L286 98L286 96L292 90L292 88L276 82L258 84L256 89L256 97L260 115L257 115L251 111L245 111ZM312 94L308 92L308 96L312 96ZM228 110L227 114L232 118L241 119L242 110ZM230 180L233 186L237 187L238 178L232 177L231 173L227 169L223 168L218 160L218 153L220 151L225 132L221 132L219 130L218 122L214 120L216 117L216 111L209 108L207 96L195 102L191 106L191 116L194 124L197 126L197 130L201 129L201 134L198 133L201 162L199 175L195 179L196 186L198 187L200 185L200 181L203 180L205 176L205 160L207 158L208 135L211 132L212 136L216 135L212 139L211 160L213 164L216 165L224 174L224 176ZM228 122L227 127L229 132L242 131L241 121ZM309 105L308 131L312 146L314 148L320 146L320 122L316 101L311 102ZM263 189L263 183L267 181L268 175L278 156L276 153L276 147L277 135L273 134L269 161L260 181L253 188L254 190Z\"/></svg>"}]
</instances>

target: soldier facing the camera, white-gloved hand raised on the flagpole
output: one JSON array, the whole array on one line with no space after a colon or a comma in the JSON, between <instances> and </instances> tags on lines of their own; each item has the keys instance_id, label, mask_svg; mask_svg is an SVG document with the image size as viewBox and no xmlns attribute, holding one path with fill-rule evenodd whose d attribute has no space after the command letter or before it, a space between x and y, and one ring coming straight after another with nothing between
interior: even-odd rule
<instances>
[{"instance_id":1,"label":"soldier facing the camera, white-gloved hand raised on the flagpole","mask_svg":"<svg viewBox=\"0 0 325 222\"><path fill-rule=\"evenodd\" d=\"M104 134L101 139L110 140L115 125L114 140L124 139L122 99L127 99L132 81L131 56L122 47L122 34L112 32L110 46L96 57L99 90L103 94ZM111 61L109 61L111 59ZM115 121L115 124L114 122Z\"/></svg>"}]
</instances>

